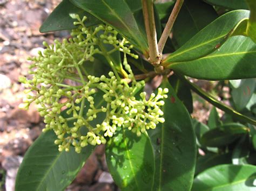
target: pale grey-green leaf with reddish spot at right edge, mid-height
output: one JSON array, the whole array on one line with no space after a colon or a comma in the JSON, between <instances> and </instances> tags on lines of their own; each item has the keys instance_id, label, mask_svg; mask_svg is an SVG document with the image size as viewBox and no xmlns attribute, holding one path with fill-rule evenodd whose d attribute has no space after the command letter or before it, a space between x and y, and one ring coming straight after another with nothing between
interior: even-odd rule
<instances>
[{"instance_id":1,"label":"pale grey-green leaf with reddish spot at right edge, mid-height","mask_svg":"<svg viewBox=\"0 0 256 191\"><path fill-rule=\"evenodd\" d=\"M256 81L255 79L245 79L244 82L238 88L232 88L231 96L234 102L234 106L238 111L244 109L247 103L250 101Z\"/></svg>"}]
</instances>

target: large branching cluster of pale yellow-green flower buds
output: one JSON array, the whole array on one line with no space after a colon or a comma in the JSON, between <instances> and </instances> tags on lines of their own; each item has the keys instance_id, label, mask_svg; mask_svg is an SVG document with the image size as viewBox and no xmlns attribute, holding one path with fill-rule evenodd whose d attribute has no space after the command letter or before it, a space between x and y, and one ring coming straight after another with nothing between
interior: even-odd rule
<instances>
[{"instance_id":1,"label":"large branching cluster of pale yellow-green flower buds","mask_svg":"<svg viewBox=\"0 0 256 191\"><path fill-rule=\"evenodd\" d=\"M32 80L19 79L28 88L26 99L19 107L28 109L32 102L38 105L46 123L44 131L55 131L59 151L69 151L73 145L79 153L87 144L105 144L105 137L112 137L117 128L127 128L140 136L164 123L160 108L168 89L159 88L158 94L152 93L149 100L143 92L138 99L136 94L145 82L136 81L127 63L126 54L138 58L131 53L132 45L125 38L119 40L117 31L110 26L85 27L86 17L75 17L78 28L72 30L72 38L62 43L55 40L53 45L44 43L46 49L29 59L33 61L29 71ZM112 45L113 50L106 52L102 48L104 44ZM108 58L114 51L124 53L123 66L130 84L120 79L112 63L115 73L109 72L109 76L89 75L83 66L85 61L93 61L96 54ZM73 84L65 83L66 80ZM101 102L95 102L97 96L102 96ZM100 120L102 115L104 119Z\"/></svg>"}]
</instances>

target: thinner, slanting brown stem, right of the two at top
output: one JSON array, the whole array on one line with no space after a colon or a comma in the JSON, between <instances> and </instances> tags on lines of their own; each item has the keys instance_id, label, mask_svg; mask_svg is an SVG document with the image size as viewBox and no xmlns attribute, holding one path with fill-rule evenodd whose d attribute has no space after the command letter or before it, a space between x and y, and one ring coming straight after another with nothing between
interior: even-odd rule
<instances>
[{"instance_id":1,"label":"thinner, slanting brown stem, right of the two at top","mask_svg":"<svg viewBox=\"0 0 256 191\"><path fill-rule=\"evenodd\" d=\"M168 21L165 25L164 31L163 31L163 33L160 37L159 42L158 42L158 49L159 49L160 54L163 53L165 43L166 43L166 41L169 37L169 34L171 33L173 23L175 22L175 20L178 16L179 10L180 10L183 2L184 2L184 0L177 0L177 2L174 5L174 8L171 12L171 15L170 15L170 17L169 17L169 19L168 19Z\"/></svg>"}]
</instances>

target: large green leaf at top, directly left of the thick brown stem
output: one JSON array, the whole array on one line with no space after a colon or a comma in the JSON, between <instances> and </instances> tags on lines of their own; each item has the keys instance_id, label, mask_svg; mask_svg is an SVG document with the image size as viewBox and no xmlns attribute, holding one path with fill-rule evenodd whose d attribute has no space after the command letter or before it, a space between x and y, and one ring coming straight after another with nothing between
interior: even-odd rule
<instances>
[{"instance_id":1,"label":"large green leaf at top, directly left of the thick brown stem","mask_svg":"<svg viewBox=\"0 0 256 191\"><path fill-rule=\"evenodd\" d=\"M112 26L143 53L147 52L146 32L141 31L124 0L71 0L79 8Z\"/></svg>"}]
</instances>

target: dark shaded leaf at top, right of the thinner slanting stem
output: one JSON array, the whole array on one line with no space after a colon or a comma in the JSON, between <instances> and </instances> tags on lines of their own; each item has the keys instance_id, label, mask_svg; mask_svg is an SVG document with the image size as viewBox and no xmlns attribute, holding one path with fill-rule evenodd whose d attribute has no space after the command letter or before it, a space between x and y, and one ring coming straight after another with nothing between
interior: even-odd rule
<instances>
[{"instance_id":1,"label":"dark shaded leaf at top, right of the thinner slanting stem","mask_svg":"<svg viewBox=\"0 0 256 191\"><path fill-rule=\"evenodd\" d=\"M213 7L201 0L185 0L173 25L174 45L184 45L205 26L218 17Z\"/></svg>"}]
</instances>

